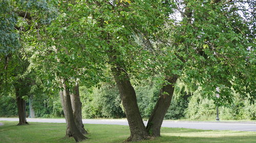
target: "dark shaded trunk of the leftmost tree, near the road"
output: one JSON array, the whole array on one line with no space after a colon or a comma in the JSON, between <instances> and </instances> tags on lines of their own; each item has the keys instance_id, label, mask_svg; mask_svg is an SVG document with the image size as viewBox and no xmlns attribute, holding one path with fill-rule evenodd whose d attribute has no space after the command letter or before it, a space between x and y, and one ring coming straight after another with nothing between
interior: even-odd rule
<instances>
[{"instance_id":1,"label":"dark shaded trunk of the leftmost tree, near the road","mask_svg":"<svg viewBox=\"0 0 256 143\"><path fill-rule=\"evenodd\" d=\"M22 96L19 95L19 89L16 89L15 92L19 119L19 123L17 125L28 125L29 123L26 120L26 102Z\"/></svg>"}]
</instances>

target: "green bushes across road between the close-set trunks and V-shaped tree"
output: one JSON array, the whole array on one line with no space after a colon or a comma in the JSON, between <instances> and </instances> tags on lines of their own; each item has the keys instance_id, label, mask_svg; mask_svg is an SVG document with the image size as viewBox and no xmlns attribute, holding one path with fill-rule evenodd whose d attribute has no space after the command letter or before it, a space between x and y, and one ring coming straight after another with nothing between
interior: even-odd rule
<instances>
[{"instance_id":1,"label":"green bushes across road between the close-set trunks and V-shaped tree","mask_svg":"<svg viewBox=\"0 0 256 143\"><path fill-rule=\"evenodd\" d=\"M124 118L121 99L115 85L102 84L100 89L89 92L80 87L83 118Z\"/></svg>"}]
</instances>

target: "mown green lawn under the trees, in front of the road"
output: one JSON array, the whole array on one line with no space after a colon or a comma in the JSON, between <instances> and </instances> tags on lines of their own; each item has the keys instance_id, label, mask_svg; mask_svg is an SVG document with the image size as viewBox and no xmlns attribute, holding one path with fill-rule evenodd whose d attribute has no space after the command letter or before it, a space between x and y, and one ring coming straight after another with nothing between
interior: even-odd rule
<instances>
[{"instance_id":1,"label":"mown green lawn under the trees, in front of the road","mask_svg":"<svg viewBox=\"0 0 256 143\"><path fill-rule=\"evenodd\" d=\"M0 126L0 142L75 142L66 138L66 124L33 123L28 126L16 126L17 122L7 122ZM123 142L129 137L128 126L86 124L89 139L82 142ZM212 131L184 128L162 128L161 137L140 142L256 142L256 132Z\"/></svg>"}]
</instances>

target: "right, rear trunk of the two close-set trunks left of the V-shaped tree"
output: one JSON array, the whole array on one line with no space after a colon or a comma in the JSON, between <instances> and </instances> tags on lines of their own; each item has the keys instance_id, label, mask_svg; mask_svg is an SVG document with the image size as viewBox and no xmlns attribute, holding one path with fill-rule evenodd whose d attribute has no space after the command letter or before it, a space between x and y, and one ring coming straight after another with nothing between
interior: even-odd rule
<instances>
[{"instance_id":1,"label":"right, rear trunk of the two close-set trunks left of the V-shaped tree","mask_svg":"<svg viewBox=\"0 0 256 143\"><path fill-rule=\"evenodd\" d=\"M71 94L71 103L76 127L79 131L81 131L82 134L88 134L88 132L84 129L84 126L82 124L82 103L80 101L78 83L76 83L73 89L73 93Z\"/></svg>"}]
</instances>

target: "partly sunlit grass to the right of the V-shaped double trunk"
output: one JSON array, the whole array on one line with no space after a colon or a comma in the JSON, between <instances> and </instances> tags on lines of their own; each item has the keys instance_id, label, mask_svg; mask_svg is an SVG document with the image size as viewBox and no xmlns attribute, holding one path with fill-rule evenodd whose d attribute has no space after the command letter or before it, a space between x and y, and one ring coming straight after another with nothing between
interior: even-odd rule
<instances>
[{"instance_id":1,"label":"partly sunlit grass to the right of the V-shaped double trunk","mask_svg":"<svg viewBox=\"0 0 256 143\"><path fill-rule=\"evenodd\" d=\"M141 142L241 142L255 143L256 132L163 128L161 137Z\"/></svg>"}]
</instances>

